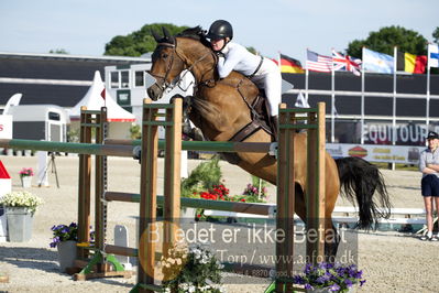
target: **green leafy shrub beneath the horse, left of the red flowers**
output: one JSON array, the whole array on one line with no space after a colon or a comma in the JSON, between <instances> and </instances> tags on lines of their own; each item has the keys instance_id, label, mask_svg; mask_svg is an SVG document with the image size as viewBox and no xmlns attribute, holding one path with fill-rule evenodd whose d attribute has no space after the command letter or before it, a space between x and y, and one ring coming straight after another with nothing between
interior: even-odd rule
<instances>
[{"instance_id":1,"label":"green leafy shrub beneath the horse, left of the red flowers","mask_svg":"<svg viewBox=\"0 0 439 293\"><path fill-rule=\"evenodd\" d=\"M211 160L200 163L190 172L187 178L182 181L182 196L194 197L194 193L199 193L220 184L221 177L219 156L216 155Z\"/></svg>"}]
</instances>

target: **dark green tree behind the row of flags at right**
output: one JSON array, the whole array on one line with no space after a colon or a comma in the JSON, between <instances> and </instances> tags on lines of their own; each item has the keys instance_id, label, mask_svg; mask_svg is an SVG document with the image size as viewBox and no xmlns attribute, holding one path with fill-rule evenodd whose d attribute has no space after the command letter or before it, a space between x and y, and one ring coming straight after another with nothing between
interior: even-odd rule
<instances>
[{"instance_id":1,"label":"dark green tree behind the row of flags at right","mask_svg":"<svg viewBox=\"0 0 439 293\"><path fill-rule=\"evenodd\" d=\"M438 32L439 34L439 32ZM362 47L394 55L394 46L398 51L415 55L427 55L427 40L419 33L402 26L386 26L371 32L366 40L354 40L348 45L347 53L356 58L362 57Z\"/></svg>"}]
</instances>

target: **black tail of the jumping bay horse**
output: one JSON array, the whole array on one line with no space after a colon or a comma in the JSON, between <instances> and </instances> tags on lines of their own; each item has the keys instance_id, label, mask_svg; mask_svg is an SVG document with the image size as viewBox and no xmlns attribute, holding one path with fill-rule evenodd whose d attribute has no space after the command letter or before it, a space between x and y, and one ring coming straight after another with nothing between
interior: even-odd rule
<instances>
[{"instance_id":1,"label":"black tail of the jumping bay horse","mask_svg":"<svg viewBox=\"0 0 439 293\"><path fill-rule=\"evenodd\" d=\"M359 205L360 219L358 227L376 228L378 218L388 218L391 200L380 170L361 158L342 158L336 160L339 170L341 194L351 203ZM374 198L374 193L377 198Z\"/></svg>"}]
</instances>

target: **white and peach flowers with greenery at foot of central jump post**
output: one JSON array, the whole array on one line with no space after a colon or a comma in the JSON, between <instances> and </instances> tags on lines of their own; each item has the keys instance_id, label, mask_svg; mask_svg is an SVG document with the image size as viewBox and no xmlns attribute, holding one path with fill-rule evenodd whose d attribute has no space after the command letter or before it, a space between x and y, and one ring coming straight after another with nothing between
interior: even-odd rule
<instances>
[{"instance_id":1,"label":"white and peach flowers with greenery at foot of central jump post","mask_svg":"<svg viewBox=\"0 0 439 293\"><path fill-rule=\"evenodd\" d=\"M223 292L220 275L223 265L207 246L176 243L158 265L165 292Z\"/></svg>"}]
</instances>

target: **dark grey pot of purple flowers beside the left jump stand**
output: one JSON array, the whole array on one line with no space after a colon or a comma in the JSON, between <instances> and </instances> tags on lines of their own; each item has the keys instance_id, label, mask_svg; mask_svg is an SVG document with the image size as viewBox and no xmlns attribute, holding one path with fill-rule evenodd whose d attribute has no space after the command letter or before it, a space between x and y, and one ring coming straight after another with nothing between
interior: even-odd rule
<instances>
[{"instance_id":1,"label":"dark grey pot of purple flowers beside the left jump stand","mask_svg":"<svg viewBox=\"0 0 439 293\"><path fill-rule=\"evenodd\" d=\"M51 230L53 231L53 238L50 246L57 248L59 270L64 272L67 268L74 267L76 260L78 226L76 223L70 223L68 226L53 226Z\"/></svg>"}]
</instances>

